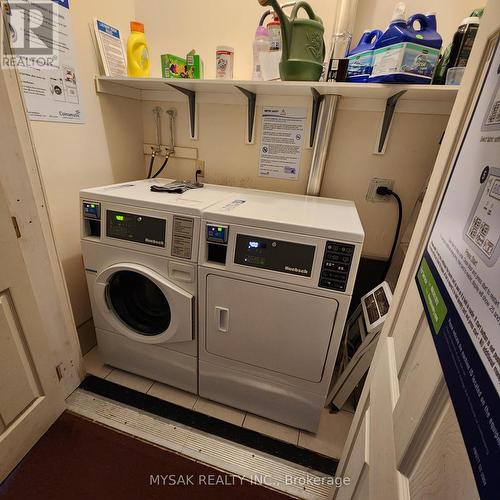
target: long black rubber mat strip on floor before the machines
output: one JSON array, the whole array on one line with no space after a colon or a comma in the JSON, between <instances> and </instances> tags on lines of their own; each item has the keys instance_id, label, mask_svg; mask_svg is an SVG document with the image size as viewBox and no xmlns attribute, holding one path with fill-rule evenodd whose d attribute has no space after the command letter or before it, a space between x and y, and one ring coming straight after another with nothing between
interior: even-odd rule
<instances>
[{"instance_id":1,"label":"long black rubber mat strip on floor before the machines","mask_svg":"<svg viewBox=\"0 0 500 500\"><path fill-rule=\"evenodd\" d=\"M337 470L338 461L334 458L264 436L250 429L163 401L149 394L134 391L109 380L90 375L82 382L80 388L254 450L263 451L289 462L309 467L318 472L334 476Z\"/></svg>"}]
</instances>

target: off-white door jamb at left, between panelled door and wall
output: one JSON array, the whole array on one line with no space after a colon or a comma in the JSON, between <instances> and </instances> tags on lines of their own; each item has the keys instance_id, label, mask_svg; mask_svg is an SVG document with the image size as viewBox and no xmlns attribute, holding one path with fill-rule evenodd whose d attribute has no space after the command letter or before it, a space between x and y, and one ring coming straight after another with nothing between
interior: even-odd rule
<instances>
[{"instance_id":1,"label":"off-white door jamb at left, between panelled door and wall","mask_svg":"<svg viewBox=\"0 0 500 500\"><path fill-rule=\"evenodd\" d=\"M85 371L21 83L15 69L0 69L0 109L0 184L9 216L17 226L21 253L46 322L54 368L63 392L68 396L83 380Z\"/></svg>"}]
</instances>

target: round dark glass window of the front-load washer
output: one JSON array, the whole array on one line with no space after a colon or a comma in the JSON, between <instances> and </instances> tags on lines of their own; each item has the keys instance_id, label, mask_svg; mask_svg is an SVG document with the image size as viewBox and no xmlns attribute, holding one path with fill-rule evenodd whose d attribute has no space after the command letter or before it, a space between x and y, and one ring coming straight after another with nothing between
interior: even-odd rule
<instances>
[{"instance_id":1,"label":"round dark glass window of the front-load washer","mask_svg":"<svg viewBox=\"0 0 500 500\"><path fill-rule=\"evenodd\" d=\"M118 271L109 279L106 293L116 315L137 333L154 336L169 327L171 311L167 298L147 276Z\"/></svg>"}]
</instances>

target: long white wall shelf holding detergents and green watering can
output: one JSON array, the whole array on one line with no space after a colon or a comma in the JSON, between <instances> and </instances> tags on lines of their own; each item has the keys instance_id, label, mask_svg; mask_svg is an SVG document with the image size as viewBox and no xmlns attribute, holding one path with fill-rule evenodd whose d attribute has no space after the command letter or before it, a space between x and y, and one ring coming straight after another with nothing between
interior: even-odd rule
<instances>
[{"instance_id":1,"label":"long white wall shelf holding detergents and green watering can","mask_svg":"<svg viewBox=\"0 0 500 500\"><path fill-rule=\"evenodd\" d=\"M451 85L403 85L380 83L329 82L254 82L247 80L182 80L167 78L96 77L99 93L138 100L151 100L154 94L175 93L169 84L205 94L241 96L236 86L257 95L311 97L311 89L322 95L340 95L359 99L384 99L405 90L401 100L453 102L458 92ZM221 96L222 97L222 96Z\"/></svg>"}]
</instances>

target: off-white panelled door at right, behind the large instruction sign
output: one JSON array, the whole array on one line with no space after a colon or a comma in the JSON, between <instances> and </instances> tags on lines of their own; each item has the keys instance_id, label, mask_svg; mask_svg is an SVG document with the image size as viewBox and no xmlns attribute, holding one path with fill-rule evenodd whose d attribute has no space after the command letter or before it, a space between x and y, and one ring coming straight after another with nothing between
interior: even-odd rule
<instances>
[{"instance_id":1,"label":"off-white panelled door at right, behind the large instruction sign","mask_svg":"<svg viewBox=\"0 0 500 500\"><path fill-rule=\"evenodd\" d=\"M489 2L337 469L350 484L335 491L336 500L478 498L415 276L499 19L500 3Z\"/></svg>"}]
</instances>

